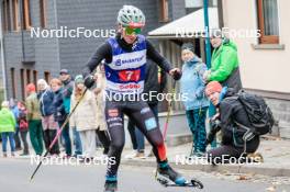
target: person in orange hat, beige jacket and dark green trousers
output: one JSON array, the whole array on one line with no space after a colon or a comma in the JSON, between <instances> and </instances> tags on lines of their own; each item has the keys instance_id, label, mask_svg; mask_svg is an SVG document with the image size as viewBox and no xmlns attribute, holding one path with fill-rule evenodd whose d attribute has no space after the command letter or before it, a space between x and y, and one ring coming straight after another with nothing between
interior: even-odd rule
<instances>
[{"instance_id":1,"label":"person in orange hat, beige jacket and dark green trousers","mask_svg":"<svg viewBox=\"0 0 290 192\"><path fill-rule=\"evenodd\" d=\"M37 100L36 88L33 83L26 86L27 98L25 100L27 109L29 132L33 149L35 154L43 154L43 128L40 102Z\"/></svg>"}]
</instances>

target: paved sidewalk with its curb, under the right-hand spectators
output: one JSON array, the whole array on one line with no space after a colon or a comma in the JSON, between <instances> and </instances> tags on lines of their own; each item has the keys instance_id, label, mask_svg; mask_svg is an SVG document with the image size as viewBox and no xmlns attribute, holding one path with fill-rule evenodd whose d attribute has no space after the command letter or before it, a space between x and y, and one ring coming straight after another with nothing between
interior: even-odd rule
<instances>
[{"instance_id":1,"label":"paved sidewalk with its curb, under the right-hand spectators","mask_svg":"<svg viewBox=\"0 0 290 192\"><path fill-rule=\"evenodd\" d=\"M261 139L260 146L257 153L260 153L264 157L264 162L259 165L221 165L211 166L203 165L205 161L196 163L192 161L186 161L180 163L180 157L185 157L190 153L191 144L186 144L177 147L169 147L167 149L168 159L174 167L187 170L201 170L201 171L220 171L231 173L250 173L250 174L265 174L274 177L290 177L290 140L283 140L276 137L266 137ZM147 147L149 149L149 147ZM146 151L148 153L148 150ZM126 149L123 153L125 155L132 153ZM182 158L181 158L182 159ZM179 163L177 163L177 160ZM135 166L149 166L155 167L155 158L146 159L124 159L122 163L135 165Z\"/></svg>"}]
</instances>

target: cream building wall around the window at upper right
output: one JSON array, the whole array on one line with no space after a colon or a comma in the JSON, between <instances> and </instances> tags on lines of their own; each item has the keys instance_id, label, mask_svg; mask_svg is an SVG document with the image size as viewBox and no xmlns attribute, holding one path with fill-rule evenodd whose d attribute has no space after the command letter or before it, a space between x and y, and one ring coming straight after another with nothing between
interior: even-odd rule
<instances>
[{"instance_id":1,"label":"cream building wall around the window at upper right","mask_svg":"<svg viewBox=\"0 0 290 192\"><path fill-rule=\"evenodd\" d=\"M290 1L278 0L280 45L285 49L255 49L256 37L235 37L245 88L290 93ZM256 0L223 0L224 25L257 30Z\"/></svg>"}]
</instances>

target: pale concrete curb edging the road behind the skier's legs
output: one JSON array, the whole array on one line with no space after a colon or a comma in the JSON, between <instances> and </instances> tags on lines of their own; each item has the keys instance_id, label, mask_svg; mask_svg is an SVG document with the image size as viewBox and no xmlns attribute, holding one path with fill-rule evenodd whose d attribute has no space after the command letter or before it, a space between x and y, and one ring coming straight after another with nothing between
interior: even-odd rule
<instances>
[{"instance_id":1,"label":"pale concrete curb edging the road behind the skier's legs","mask_svg":"<svg viewBox=\"0 0 290 192\"><path fill-rule=\"evenodd\" d=\"M135 166L135 167L156 167L155 160L123 160L122 165ZM183 170L200 170L204 172L224 172L228 171L231 173L250 173L250 174L264 174L270 177L290 177L290 169L285 168L268 168L263 166L238 166L238 165L223 165L223 166L211 166L211 165L176 165L170 161L170 165L177 169Z\"/></svg>"}]
</instances>

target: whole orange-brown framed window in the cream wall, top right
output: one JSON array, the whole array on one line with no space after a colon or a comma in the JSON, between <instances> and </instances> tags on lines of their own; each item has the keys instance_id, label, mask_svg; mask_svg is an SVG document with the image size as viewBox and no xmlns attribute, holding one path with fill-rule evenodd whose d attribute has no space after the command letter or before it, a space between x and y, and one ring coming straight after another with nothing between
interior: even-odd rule
<instances>
[{"instance_id":1,"label":"whole orange-brown framed window in the cream wall, top right","mask_svg":"<svg viewBox=\"0 0 290 192\"><path fill-rule=\"evenodd\" d=\"M277 0L257 0L260 44L279 44Z\"/></svg>"}]
</instances>

